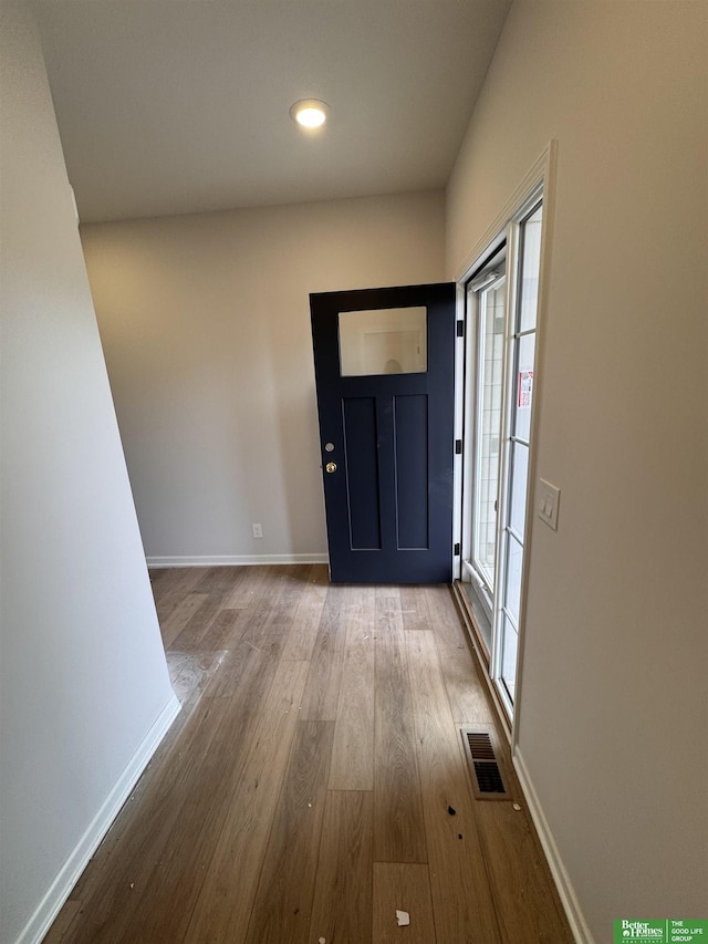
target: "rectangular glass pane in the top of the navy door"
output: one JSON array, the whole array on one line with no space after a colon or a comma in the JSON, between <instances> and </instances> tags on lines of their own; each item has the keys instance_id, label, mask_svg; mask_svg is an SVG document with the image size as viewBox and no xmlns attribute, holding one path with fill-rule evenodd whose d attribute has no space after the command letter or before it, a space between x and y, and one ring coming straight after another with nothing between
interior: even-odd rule
<instances>
[{"instance_id":1,"label":"rectangular glass pane in the top of the navy door","mask_svg":"<svg viewBox=\"0 0 708 944\"><path fill-rule=\"evenodd\" d=\"M340 312L343 377L420 374L427 365L427 309Z\"/></svg>"}]
</instances>

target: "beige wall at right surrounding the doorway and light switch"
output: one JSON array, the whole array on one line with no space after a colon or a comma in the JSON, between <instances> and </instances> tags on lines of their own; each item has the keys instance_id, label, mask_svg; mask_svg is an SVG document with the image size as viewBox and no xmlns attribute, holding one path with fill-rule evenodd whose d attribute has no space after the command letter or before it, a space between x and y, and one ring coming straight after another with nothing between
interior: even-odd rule
<instances>
[{"instance_id":1,"label":"beige wall at right surrounding the doorway and light switch","mask_svg":"<svg viewBox=\"0 0 708 944\"><path fill-rule=\"evenodd\" d=\"M519 749L597 942L708 913L705 2L516 2L448 194L457 276L559 143Z\"/></svg>"}]
</instances>

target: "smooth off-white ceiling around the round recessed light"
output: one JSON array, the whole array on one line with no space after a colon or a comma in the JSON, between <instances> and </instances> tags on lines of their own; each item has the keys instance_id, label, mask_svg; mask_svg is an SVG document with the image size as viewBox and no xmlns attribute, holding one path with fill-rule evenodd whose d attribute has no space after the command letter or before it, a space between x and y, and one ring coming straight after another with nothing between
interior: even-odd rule
<instances>
[{"instance_id":1,"label":"smooth off-white ceiling around the round recessed light","mask_svg":"<svg viewBox=\"0 0 708 944\"><path fill-rule=\"evenodd\" d=\"M509 4L38 0L82 221L444 186Z\"/></svg>"}]
</instances>

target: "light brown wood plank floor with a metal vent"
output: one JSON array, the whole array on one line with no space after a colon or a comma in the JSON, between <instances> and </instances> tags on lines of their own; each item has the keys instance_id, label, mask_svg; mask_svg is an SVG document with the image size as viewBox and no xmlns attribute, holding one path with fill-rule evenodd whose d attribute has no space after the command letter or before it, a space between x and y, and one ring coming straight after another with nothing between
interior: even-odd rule
<instances>
[{"instance_id":1,"label":"light brown wood plank floor with a metal vent","mask_svg":"<svg viewBox=\"0 0 708 944\"><path fill-rule=\"evenodd\" d=\"M459 726L494 715L447 587L152 577L183 712L45 942L572 942L508 757L473 799Z\"/></svg>"}]
</instances>

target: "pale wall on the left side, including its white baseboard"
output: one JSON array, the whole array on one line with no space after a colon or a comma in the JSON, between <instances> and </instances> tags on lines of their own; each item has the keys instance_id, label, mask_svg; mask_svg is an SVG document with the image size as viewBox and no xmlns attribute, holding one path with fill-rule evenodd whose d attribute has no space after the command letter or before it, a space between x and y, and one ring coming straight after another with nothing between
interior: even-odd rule
<instances>
[{"instance_id":1,"label":"pale wall on the left side, including its white baseboard","mask_svg":"<svg viewBox=\"0 0 708 944\"><path fill-rule=\"evenodd\" d=\"M155 724L164 727L176 703L46 74L23 4L3 3L0 34L0 941L8 944L38 940L148 759L140 748L149 754Z\"/></svg>"}]
</instances>

